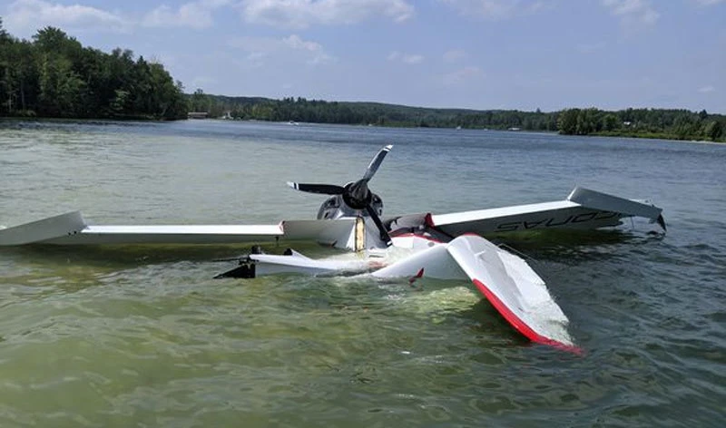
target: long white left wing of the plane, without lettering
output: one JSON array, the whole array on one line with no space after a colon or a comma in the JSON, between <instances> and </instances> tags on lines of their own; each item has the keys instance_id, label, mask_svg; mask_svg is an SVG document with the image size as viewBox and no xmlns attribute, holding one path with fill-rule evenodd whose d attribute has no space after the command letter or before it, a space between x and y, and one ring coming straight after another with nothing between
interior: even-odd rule
<instances>
[{"instance_id":1,"label":"long white left wing of the plane, without lettering","mask_svg":"<svg viewBox=\"0 0 726 428\"><path fill-rule=\"evenodd\" d=\"M0 246L26 244L237 244L280 239L357 248L359 219L289 220L276 225L93 226L80 211L0 229ZM349 246L349 247L348 247Z\"/></svg>"}]
</instances>

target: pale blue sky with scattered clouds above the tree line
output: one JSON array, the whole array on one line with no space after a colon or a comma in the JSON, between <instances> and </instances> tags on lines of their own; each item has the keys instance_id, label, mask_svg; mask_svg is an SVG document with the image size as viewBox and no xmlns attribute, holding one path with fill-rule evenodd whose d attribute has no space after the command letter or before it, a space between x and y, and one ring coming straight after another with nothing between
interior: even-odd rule
<instances>
[{"instance_id":1,"label":"pale blue sky with scattered clouds above the tree line","mask_svg":"<svg viewBox=\"0 0 726 428\"><path fill-rule=\"evenodd\" d=\"M726 113L726 0L0 0L131 49L186 92L543 111Z\"/></svg>"}]
</instances>

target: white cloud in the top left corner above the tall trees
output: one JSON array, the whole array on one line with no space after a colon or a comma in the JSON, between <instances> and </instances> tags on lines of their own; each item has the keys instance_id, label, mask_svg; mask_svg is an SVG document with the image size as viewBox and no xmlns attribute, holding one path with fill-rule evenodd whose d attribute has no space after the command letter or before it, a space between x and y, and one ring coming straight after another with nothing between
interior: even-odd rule
<instances>
[{"instance_id":1,"label":"white cloud in the top left corner above the tall trees","mask_svg":"<svg viewBox=\"0 0 726 428\"><path fill-rule=\"evenodd\" d=\"M3 26L11 34L25 37L45 26L66 32L83 30L128 31L132 23L121 15L85 5L60 5L43 0L16 0L7 7Z\"/></svg>"}]
</instances>

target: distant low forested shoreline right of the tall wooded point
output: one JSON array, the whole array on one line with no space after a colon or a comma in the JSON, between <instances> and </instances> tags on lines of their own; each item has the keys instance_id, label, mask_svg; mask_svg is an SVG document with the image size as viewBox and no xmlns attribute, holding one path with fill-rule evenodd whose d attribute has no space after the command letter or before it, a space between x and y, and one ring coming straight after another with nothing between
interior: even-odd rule
<instances>
[{"instance_id":1,"label":"distant low forested shoreline right of the tall wooded point","mask_svg":"<svg viewBox=\"0 0 726 428\"><path fill-rule=\"evenodd\" d=\"M566 135L622 135L678 140L724 141L726 116L705 110L596 108L559 112L517 110L475 111L431 109L378 102L326 102L305 98L227 97L197 90L190 95L193 111L211 117L272 122L373 124L378 126L558 131Z\"/></svg>"}]
</instances>

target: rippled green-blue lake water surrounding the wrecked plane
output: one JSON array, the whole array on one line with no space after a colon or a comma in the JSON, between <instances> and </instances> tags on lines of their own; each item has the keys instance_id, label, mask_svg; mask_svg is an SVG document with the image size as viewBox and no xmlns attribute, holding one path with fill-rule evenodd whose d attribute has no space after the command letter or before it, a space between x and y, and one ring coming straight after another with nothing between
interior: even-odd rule
<instances>
[{"instance_id":1,"label":"rippled green-blue lake water surrounding the wrecked plane","mask_svg":"<svg viewBox=\"0 0 726 428\"><path fill-rule=\"evenodd\" d=\"M664 238L535 235L584 355L468 283L213 280L244 247L0 249L0 426L723 426L726 145L255 122L0 122L0 224L315 216L285 181L358 179L388 214L652 199ZM276 250L277 248L270 248ZM310 245L310 255L325 250Z\"/></svg>"}]
</instances>

